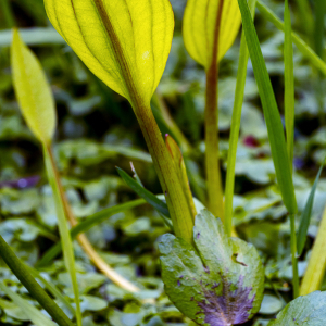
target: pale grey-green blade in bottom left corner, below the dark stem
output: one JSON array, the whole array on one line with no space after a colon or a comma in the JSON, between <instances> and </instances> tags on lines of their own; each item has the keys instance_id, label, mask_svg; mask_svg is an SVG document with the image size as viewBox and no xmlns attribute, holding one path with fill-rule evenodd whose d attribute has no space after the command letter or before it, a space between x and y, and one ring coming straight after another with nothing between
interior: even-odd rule
<instances>
[{"instance_id":1,"label":"pale grey-green blade in bottom left corner, below the dark stem","mask_svg":"<svg viewBox=\"0 0 326 326\"><path fill-rule=\"evenodd\" d=\"M36 326L57 326L49 317L32 305L27 300L13 292L0 281L0 290L3 291L16 305L18 305Z\"/></svg>"}]
</instances>

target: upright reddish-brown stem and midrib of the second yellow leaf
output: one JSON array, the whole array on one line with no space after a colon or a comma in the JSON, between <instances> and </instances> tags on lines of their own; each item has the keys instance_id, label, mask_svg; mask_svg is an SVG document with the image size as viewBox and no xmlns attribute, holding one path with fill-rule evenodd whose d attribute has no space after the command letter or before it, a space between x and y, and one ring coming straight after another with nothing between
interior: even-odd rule
<instances>
[{"instance_id":1,"label":"upright reddish-brown stem and midrib of the second yellow leaf","mask_svg":"<svg viewBox=\"0 0 326 326\"><path fill-rule=\"evenodd\" d=\"M215 30L212 62L206 68L205 92L205 171L209 195L209 210L224 220L223 188L218 149L218 39L224 0L220 1Z\"/></svg>"}]
</instances>

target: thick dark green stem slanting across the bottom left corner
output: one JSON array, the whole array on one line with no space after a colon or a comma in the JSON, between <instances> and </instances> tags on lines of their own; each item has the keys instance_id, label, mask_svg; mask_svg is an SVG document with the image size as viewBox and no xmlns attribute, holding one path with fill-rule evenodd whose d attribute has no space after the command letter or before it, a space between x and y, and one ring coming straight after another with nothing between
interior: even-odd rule
<instances>
[{"instance_id":1,"label":"thick dark green stem slanting across the bottom left corner","mask_svg":"<svg viewBox=\"0 0 326 326\"><path fill-rule=\"evenodd\" d=\"M20 279L30 296L49 313L60 326L74 326L58 304L47 294L41 286L29 274L27 266L20 261L10 246L0 236L0 256L13 274Z\"/></svg>"}]
</instances>

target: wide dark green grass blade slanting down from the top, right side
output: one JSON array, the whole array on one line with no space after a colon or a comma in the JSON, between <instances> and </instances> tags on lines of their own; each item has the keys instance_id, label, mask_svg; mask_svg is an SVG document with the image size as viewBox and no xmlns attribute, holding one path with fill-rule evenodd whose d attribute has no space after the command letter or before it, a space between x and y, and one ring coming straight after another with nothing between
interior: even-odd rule
<instances>
[{"instance_id":1,"label":"wide dark green grass blade slanting down from the top, right side","mask_svg":"<svg viewBox=\"0 0 326 326\"><path fill-rule=\"evenodd\" d=\"M287 210L290 214L294 214L297 213L297 200L280 115L250 10L247 1L238 0L238 2L242 15L246 40L267 125L272 158L278 186Z\"/></svg>"}]
</instances>

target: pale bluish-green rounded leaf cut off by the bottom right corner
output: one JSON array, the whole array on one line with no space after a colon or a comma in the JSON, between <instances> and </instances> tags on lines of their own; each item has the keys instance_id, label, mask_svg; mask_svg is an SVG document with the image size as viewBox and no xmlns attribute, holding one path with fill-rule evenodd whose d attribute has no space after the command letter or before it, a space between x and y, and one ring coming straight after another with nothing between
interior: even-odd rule
<instances>
[{"instance_id":1,"label":"pale bluish-green rounded leaf cut off by the bottom right corner","mask_svg":"<svg viewBox=\"0 0 326 326\"><path fill-rule=\"evenodd\" d=\"M324 326L326 292L315 291L291 301L268 326Z\"/></svg>"}]
</instances>

